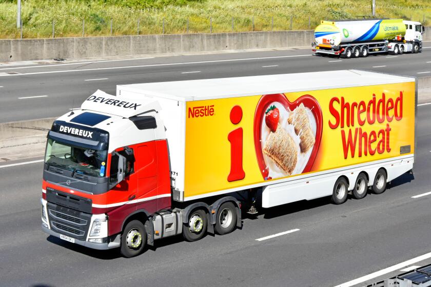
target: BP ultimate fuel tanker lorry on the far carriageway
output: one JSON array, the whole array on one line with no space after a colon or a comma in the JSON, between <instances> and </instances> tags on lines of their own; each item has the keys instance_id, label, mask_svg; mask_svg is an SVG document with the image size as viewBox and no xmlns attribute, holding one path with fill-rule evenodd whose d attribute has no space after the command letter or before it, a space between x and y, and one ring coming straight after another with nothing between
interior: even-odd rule
<instances>
[{"instance_id":1,"label":"BP ultimate fuel tanker lorry on the far carriageway","mask_svg":"<svg viewBox=\"0 0 431 287\"><path fill-rule=\"evenodd\" d=\"M324 21L315 29L315 55L342 58L369 54L403 54L422 51L424 26L402 19Z\"/></svg>"}]
</instances>

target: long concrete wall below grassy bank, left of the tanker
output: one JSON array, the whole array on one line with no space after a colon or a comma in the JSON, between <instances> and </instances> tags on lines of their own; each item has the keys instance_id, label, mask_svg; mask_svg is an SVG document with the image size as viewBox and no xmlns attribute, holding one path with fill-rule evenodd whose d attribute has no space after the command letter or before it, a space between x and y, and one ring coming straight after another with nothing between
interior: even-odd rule
<instances>
[{"instance_id":1,"label":"long concrete wall below grassy bank, left of the tanker","mask_svg":"<svg viewBox=\"0 0 431 287\"><path fill-rule=\"evenodd\" d=\"M0 61L310 46L313 30L0 40Z\"/></svg>"}]
</instances>

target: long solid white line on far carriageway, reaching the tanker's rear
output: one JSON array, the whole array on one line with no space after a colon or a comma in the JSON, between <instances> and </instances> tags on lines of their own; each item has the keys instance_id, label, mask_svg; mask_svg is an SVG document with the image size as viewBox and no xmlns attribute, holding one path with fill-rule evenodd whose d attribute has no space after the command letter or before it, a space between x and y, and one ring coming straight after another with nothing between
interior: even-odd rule
<instances>
[{"instance_id":1,"label":"long solid white line on far carriageway, reaching the tanker's rear","mask_svg":"<svg viewBox=\"0 0 431 287\"><path fill-rule=\"evenodd\" d=\"M115 69L130 69L130 68L146 68L146 67L161 67L161 66L175 66L175 65L191 65L191 64L205 64L205 63L220 63L220 62L230 62L230 61L262 60L262 59L290 58L290 57L304 57L304 56L311 56L311 54L307 54L307 55L290 55L290 56L275 56L275 57L260 57L260 58L244 58L244 59L196 61L196 62L184 62L184 63L152 64L152 65L109 67L109 68L76 69L76 70L63 70L63 71L46 71L46 72L33 72L33 73L12 74L12 75L11 74L0 74L0 77L22 76L22 75L37 75L37 74L53 74L53 73L69 73L69 72L83 72L83 71L101 71L101 70L115 70Z\"/></svg>"}]
</instances>

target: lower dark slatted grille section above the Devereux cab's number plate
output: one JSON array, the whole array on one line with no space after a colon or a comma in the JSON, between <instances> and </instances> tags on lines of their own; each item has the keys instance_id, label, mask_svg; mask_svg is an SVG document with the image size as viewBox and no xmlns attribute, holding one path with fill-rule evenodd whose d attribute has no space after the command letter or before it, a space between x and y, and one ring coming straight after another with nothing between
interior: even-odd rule
<instances>
[{"instance_id":1,"label":"lower dark slatted grille section above the Devereux cab's number plate","mask_svg":"<svg viewBox=\"0 0 431 287\"><path fill-rule=\"evenodd\" d=\"M91 214L47 203L48 219L51 229L79 240L87 238Z\"/></svg>"}]
</instances>

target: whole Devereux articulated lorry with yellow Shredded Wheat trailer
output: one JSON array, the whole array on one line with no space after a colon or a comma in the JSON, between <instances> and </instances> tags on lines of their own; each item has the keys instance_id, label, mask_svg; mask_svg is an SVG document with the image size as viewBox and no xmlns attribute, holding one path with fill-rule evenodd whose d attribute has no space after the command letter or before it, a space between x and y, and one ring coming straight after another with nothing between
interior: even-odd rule
<instances>
[{"instance_id":1,"label":"whole Devereux articulated lorry with yellow Shredded Wheat trailer","mask_svg":"<svg viewBox=\"0 0 431 287\"><path fill-rule=\"evenodd\" d=\"M42 229L132 257L229 233L241 209L381 193L413 170L416 91L359 70L98 90L48 133Z\"/></svg>"}]
</instances>

